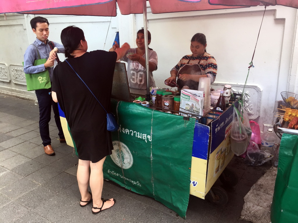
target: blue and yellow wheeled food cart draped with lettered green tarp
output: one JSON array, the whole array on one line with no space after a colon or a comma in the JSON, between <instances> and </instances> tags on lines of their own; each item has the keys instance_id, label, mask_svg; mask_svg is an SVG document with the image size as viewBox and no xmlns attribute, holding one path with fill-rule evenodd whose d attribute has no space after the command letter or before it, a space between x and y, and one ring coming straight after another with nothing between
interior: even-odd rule
<instances>
[{"instance_id":1,"label":"blue and yellow wheeled food cart draped with lettered green tarp","mask_svg":"<svg viewBox=\"0 0 298 223\"><path fill-rule=\"evenodd\" d=\"M221 115L211 112L204 125L196 118L119 100L127 95L125 64L117 63L112 97L118 100L111 105L119 130L112 132L114 150L105 160L104 178L153 197L182 217L189 194L225 205L226 191L213 184L220 176L230 186L238 183L237 175L225 170L234 156L229 138L233 106ZM238 100L233 104L238 106ZM61 110L60 119L67 144L75 147Z\"/></svg>"}]
</instances>

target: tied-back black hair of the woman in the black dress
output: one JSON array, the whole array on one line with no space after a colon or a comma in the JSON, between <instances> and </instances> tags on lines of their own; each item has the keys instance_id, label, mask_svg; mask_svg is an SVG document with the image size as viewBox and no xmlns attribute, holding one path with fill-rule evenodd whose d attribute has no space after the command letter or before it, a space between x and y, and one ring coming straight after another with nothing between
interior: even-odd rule
<instances>
[{"instance_id":1,"label":"tied-back black hair of the woman in the black dress","mask_svg":"<svg viewBox=\"0 0 298 223\"><path fill-rule=\"evenodd\" d=\"M68 26L63 29L60 38L65 48L65 57L67 58L74 57L70 54L79 47L81 40L85 41L83 30L76 26Z\"/></svg>"}]
</instances>

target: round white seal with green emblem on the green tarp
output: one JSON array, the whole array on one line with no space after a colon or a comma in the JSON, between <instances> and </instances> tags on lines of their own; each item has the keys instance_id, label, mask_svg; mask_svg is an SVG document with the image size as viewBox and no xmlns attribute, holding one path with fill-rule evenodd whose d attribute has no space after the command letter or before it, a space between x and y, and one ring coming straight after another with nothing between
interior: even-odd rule
<instances>
[{"instance_id":1,"label":"round white seal with green emblem on the green tarp","mask_svg":"<svg viewBox=\"0 0 298 223\"><path fill-rule=\"evenodd\" d=\"M123 169L131 168L134 163L131 151L128 147L119 141L113 141L114 150L112 150L111 159L118 167L123 167Z\"/></svg>"}]
</instances>

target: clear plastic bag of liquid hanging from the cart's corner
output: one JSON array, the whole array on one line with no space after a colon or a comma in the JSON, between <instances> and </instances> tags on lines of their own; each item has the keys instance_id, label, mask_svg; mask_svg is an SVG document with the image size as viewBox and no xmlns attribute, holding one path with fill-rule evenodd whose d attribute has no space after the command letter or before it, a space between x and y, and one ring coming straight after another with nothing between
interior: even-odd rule
<instances>
[{"instance_id":1,"label":"clear plastic bag of liquid hanging from the cart's corner","mask_svg":"<svg viewBox=\"0 0 298 223\"><path fill-rule=\"evenodd\" d=\"M237 156L245 153L248 145L246 129L239 118L238 109L234 107L232 130L231 130L231 150Z\"/></svg>"}]
</instances>

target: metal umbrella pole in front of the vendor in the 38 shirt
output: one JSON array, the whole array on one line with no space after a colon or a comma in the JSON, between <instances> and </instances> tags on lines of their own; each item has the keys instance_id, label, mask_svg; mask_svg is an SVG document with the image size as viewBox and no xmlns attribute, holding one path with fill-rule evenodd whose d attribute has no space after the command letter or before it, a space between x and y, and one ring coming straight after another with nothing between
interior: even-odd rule
<instances>
[{"instance_id":1,"label":"metal umbrella pole in front of the vendor in the 38 shirt","mask_svg":"<svg viewBox=\"0 0 298 223\"><path fill-rule=\"evenodd\" d=\"M147 3L143 0L143 20L144 20L144 37L145 37L145 60L146 60L146 78L147 78L147 92L146 101L150 101L149 93L149 58L148 58L148 27L147 27Z\"/></svg>"}]
</instances>

